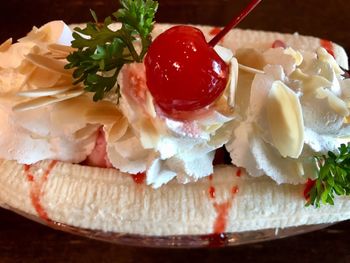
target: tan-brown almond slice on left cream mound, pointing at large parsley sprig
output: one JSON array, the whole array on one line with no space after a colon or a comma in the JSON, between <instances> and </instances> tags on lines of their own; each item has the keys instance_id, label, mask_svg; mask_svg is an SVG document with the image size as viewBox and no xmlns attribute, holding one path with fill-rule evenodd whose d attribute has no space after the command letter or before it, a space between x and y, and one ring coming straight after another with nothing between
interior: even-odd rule
<instances>
[{"instance_id":1,"label":"tan-brown almond slice on left cream mound, pointing at large parsley sprig","mask_svg":"<svg viewBox=\"0 0 350 263\"><path fill-rule=\"evenodd\" d=\"M28 54L26 58L38 67L63 75L72 75L72 70L67 70L64 68L64 66L66 65L65 61L53 59L38 54Z\"/></svg>"}]
</instances>

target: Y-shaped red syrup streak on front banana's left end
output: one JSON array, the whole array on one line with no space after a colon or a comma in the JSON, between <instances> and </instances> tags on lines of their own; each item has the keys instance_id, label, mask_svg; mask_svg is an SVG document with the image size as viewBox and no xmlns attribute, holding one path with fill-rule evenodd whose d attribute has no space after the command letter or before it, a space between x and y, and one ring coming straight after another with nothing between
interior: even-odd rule
<instances>
[{"instance_id":1,"label":"Y-shaped red syrup streak on front banana's left end","mask_svg":"<svg viewBox=\"0 0 350 263\"><path fill-rule=\"evenodd\" d=\"M35 175L30 171L31 165L24 165L24 173L27 177L28 182L30 183L30 199L32 205L37 212L38 216L44 221L50 221L50 218L41 203L41 197L43 195L43 186L47 182L47 179L52 171L52 169L57 164L57 161L51 161L44 174L40 178L36 178Z\"/></svg>"}]
</instances>

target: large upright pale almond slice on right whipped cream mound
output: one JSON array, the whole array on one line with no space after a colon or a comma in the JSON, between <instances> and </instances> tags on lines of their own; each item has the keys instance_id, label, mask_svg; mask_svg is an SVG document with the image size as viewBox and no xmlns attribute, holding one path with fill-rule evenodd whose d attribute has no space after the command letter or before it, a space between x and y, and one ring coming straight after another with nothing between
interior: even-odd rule
<instances>
[{"instance_id":1,"label":"large upright pale almond slice on right whipped cream mound","mask_svg":"<svg viewBox=\"0 0 350 263\"><path fill-rule=\"evenodd\" d=\"M266 109L274 146L283 157L298 158L304 145L304 121L298 96L283 82L275 81Z\"/></svg>"}]
</instances>

